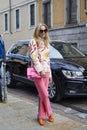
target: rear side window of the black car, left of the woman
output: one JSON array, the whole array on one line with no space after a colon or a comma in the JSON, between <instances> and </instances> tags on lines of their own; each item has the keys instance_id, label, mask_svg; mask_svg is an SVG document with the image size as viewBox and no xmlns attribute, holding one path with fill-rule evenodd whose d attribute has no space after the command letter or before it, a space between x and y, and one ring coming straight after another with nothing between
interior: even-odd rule
<instances>
[{"instance_id":1,"label":"rear side window of the black car, left of the woman","mask_svg":"<svg viewBox=\"0 0 87 130\"><path fill-rule=\"evenodd\" d=\"M19 55L24 55L26 56L28 53L28 45L27 44L16 44L10 53L13 54L19 54Z\"/></svg>"}]
</instances>

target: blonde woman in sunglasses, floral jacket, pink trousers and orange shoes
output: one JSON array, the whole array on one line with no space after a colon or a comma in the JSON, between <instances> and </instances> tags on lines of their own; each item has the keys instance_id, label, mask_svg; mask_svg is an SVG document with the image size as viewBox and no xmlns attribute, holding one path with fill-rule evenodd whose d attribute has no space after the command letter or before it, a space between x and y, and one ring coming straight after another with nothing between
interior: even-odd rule
<instances>
[{"instance_id":1,"label":"blonde woman in sunglasses, floral jacket, pink trousers and orange shoes","mask_svg":"<svg viewBox=\"0 0 87 130\"><path fill-rule=\"evenodd\" d=\"M48 84L49 81L52 82L52 75L50 69L49 36L47 25L39 24L36 27L33 39L29 44L29 53L32 59L32 65L41 75L41 78L34 78L34 83L40 98L38 121L40 125L44 125L46 115L48 116L48 120L50 122L54 121L48 95Z\"/></svg>"}]
</instances>

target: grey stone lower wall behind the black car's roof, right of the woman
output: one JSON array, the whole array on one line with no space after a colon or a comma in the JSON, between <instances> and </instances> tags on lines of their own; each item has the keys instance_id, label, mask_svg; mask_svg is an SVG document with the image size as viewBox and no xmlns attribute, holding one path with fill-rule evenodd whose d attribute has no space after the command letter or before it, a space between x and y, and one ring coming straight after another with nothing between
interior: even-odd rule
<instances>
[{"instance_id":1,"label":"grey stone lower wall behind the black car's roof, right of the woman","mask_svg":"<svg viewBox=\"0 0 87 130\"><path fill-rule=\"evenodd\" d=\"M87 52L87 28L85 26L53 29L50 31L50 38L77 43L80 50Z\"/></svg>"}]
</instances>

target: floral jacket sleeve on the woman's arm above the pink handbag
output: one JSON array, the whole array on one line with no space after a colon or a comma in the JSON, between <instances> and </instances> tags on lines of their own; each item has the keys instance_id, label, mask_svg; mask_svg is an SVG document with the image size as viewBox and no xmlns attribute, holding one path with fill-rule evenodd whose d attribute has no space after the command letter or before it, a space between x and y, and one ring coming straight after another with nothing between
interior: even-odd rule
<instances>
[{"instance_id":1,"label":"floral jacket sleeve on the woman's arm above the pink handbag","mask_svg":"<svg viewBox=\"0 0 87 130\"><path fill-rule=\"evenodd\" d=\"M34 64L34 68L37 72L41 72L43 70L43 66L38 59L38 48L34 39L32 39L29 44L29 54Z\"/></svg>"}]
</instances>

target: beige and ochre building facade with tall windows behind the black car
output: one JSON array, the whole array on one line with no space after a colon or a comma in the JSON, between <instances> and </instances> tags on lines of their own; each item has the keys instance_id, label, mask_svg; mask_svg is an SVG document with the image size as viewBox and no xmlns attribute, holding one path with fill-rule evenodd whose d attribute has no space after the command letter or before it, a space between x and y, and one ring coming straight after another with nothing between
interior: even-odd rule
<instances>
[{"instance_id":1,"label":"beige and ochre building facade with tall windows behind the black car","mask_svg":"<svg viewBox=\"0 0 87 130\"><path fill-rule=\"evenodd\" d=\"M51 39L77 43L87 52L87 0L1 0L0 34L6 49L31 39L41 22L48 25Z\"/></svg>"}]
</instances>

